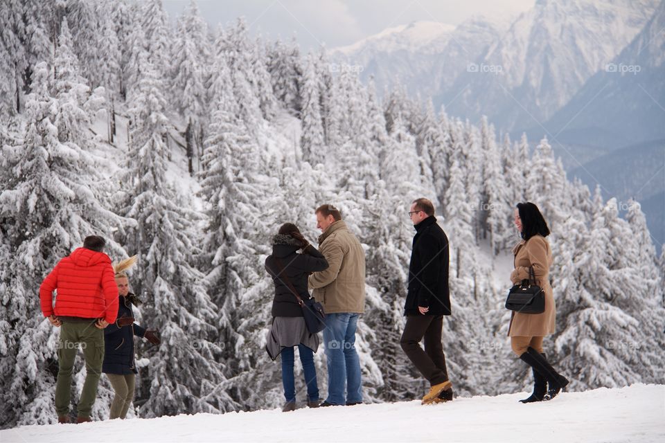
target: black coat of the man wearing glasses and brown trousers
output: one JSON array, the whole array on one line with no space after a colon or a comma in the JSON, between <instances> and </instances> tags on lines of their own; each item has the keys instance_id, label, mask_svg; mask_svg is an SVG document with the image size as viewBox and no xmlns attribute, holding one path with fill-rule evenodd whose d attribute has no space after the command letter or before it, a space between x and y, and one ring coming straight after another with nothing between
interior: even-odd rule
<instances>
[{"instance_id":1,"label":"black coat of the man wearing glasses and brown trousers","mask_svg":"<svg viewBox=\"0 0 665 443\"><path fill-rule=\"evenodd\" d=\"M448 237L436 223L434 215L420 221L415 228L404 314L421 315L418 311L420 306L429 307L427 315L449 316Z\"/></svg>"}]
</instances>

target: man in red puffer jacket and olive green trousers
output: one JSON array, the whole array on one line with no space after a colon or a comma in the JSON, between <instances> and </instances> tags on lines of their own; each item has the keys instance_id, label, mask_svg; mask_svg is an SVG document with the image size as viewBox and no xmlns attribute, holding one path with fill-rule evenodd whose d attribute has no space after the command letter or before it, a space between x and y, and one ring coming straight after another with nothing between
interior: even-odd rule
<instances>
[{"instance_id":1,"label":"man in red puffer jacket and olive green trousers","mask_svg":"<svg viewBox=\"0 0 665 443\"><path fill-rule=\"evenodd\" d=\"M97 383L104 361L103 329L114 323L118 315L118 286L111 259L102 252L105 244L98 235L85 237L83 247L60 260L39 287L44 316L54 326L62 326L55 385L55 410L59 423L69 423L71 372L79 343L85 359L86 377L78 402L78 423L90 421L97 397Z\"/></svg>"}]
</instances>

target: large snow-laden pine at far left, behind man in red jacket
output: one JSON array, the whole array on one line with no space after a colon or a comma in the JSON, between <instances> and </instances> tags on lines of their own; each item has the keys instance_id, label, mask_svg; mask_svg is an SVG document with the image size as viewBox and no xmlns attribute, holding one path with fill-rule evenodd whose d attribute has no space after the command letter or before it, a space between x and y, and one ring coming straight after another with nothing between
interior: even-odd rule
<instances>
[{"instance_id":1,"label":"large snow-laden pine at far left, behind man in red jacket","mask_svg":"<svg viewBox=\"0 0 665 443\"><path fill-rule=\"evenodd\" d=\"M62 41L63 39L61 39ZM66 40L66 39L64 39ZM58 48L57 64L66 60ZM89 116L80 108L73 90L85 89L73 70L62 66L53 82L59 99L51 97L46 63L35 66L33 93L26 106L27 125L19 145L3 147L8 182L0 194L0 213L7 226L5 237L13 257L20 257L9 281L15 320L34 334L10 336L15 346L14 376L6 381L15 403L17 424L55 420L54 379L57 331L39 313L39 284L57 260L82 244L93 233L109 237L117 217L100 203L103 192L96 172L98 160L82 143L81 132ZM71 75L67 78L66 75ZM62 100L62 101L60 101ZM69 109L69 112L65 111ZM120 251L111 242L112 251Z\"/></svg>"}]
</instances>

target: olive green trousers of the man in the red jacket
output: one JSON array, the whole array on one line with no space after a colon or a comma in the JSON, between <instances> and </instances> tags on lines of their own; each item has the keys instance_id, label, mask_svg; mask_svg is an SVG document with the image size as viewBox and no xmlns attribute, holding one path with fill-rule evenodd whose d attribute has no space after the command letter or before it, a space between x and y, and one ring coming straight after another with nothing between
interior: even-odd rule
<instances>
[{"instance_id":1,"label":"olive green trousers of the man in the red jacket","mask_svg":"<svg viewBox=\"0 0 665 443\"><path fill-rule=\"evenodd\" d=\"M85 360L85 383L78 401L78 416L90 417L97 397L97 383L104 361L104 329L91 323L62 322L57 346L57 382L55 383L55 411L59 417L69 415L71 372L80 344Z\"/></svg>"}]
</instances>

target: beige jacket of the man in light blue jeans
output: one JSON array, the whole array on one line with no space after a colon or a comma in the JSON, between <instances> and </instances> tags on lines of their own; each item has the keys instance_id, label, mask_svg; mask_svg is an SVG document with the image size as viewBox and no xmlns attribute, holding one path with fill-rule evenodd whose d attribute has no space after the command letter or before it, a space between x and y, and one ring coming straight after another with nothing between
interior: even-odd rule
<instances>
[{"instance_id":1,"label":"beige jacket of the man in light blue jeans","mask_svg":"<svg viewBox=\"0 0 665 443\"><path fill-rule=\"evenodd\" d=\"M319 251L328 269L310 275L312 296L326 314L365 311L365 252L343 220L335 221L319 236Z\"/></svg>"}]
</instances>

